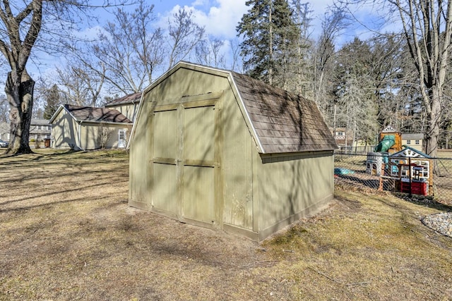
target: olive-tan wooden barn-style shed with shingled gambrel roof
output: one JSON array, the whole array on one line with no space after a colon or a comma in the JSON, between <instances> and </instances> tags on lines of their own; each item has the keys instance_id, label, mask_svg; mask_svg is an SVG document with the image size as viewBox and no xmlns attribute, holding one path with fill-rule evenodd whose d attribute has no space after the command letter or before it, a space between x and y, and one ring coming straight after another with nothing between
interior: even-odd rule
<instances>
[{"instance_id":1,"label":"olive-tan wooden barn-style shed with shingled gambrel roof","mask_svg":"<svg viewBox=\"0 0 452 301\"><path fill-rule=\"evenodd\" d=\"M229 70L177 63L144 90L129 147L129 204L194 225L260 241L333 199L316 104Z\"/></svg>"}]
</instances>

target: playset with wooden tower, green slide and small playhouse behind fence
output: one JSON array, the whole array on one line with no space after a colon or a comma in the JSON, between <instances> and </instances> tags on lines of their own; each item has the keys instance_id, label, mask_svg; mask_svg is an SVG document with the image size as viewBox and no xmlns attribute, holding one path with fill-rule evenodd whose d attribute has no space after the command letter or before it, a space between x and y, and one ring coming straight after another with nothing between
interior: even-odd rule
<instances>
[{"instance_id":1,"label":"playset with wooden tower, green slide and small playhouse behind fence","mask_svg":"<svg viewBox=\"0 0 452 301\"><path fill-rule=\"evenodd\" d=\"M383 190L383 181L388 180L399 192L433 194L432 159L402 145L402 134L391 125L380 133L374 152L367 153L366 172L380 177L380 190Z\"/></svg>"}]
</instances>

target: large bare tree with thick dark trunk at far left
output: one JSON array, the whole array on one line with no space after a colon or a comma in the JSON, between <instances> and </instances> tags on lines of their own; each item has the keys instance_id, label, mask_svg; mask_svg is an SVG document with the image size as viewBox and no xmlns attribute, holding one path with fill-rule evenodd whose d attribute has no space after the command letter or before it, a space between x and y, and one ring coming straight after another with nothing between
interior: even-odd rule
<instances>
[{"instance_id":1,"label":"large bare tree with thick dark trunk at far left","mask_svg":"<svg viewBox=\"0 0 452 301\"><path fill-rule=\"evenodd\" d=\"M105 2L109 6L109 1ZM8 61L5 92L10 105L9 154L30 153L28 137L32 117L35 80L27 72L32 50L64 51L59 39L80 23L77 13L92 7L87 0L74 1L1 1L0 52ZM39 37L39 39L38 39Z\"/></svg>"}]
</instances>

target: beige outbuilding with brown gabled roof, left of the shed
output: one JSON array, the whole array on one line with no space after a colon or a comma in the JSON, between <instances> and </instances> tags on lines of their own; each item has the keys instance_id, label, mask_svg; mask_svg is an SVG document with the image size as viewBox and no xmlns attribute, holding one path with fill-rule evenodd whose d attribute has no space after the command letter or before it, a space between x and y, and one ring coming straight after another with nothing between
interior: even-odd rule
<instances>
[{"instance_id":1,"label":"beige outbuilding with brown gabled roof, left of the shed","mask_svg":"<svg viewBox=\"0 0 452 301\"><path fill-rule=\"evenodd\" d=\"M124 148L132 127L117 110L70 104L59 106L49 123L57 149Z\"/></svg>"}]
</instances>

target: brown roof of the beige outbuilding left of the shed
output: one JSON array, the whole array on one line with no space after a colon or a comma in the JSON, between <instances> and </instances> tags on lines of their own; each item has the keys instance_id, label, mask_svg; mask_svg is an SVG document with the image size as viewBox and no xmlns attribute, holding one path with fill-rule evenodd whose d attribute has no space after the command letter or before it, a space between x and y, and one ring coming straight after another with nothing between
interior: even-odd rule
<instances>
[{"instance_id":1,"label":"brown roof of the beige outbuilding left of the shed","mask_svg":"<svg viewBox=\"0 0 452 301\"><path fill-rule=\"evenodd\" d=\"M95 108L91 106L73 106L71 104L64 104L59 106L59 109L50 118L49 123L52 123L59 112L64 109L68 111L71 116L80 122L91 123L132 123L129 118L124 116L117 110L107 108Z\"/></svg>"}]
</instances>

